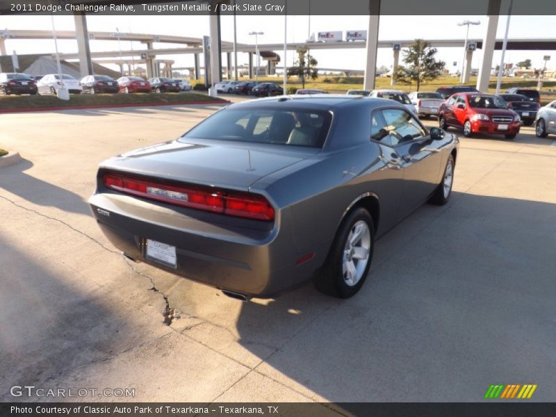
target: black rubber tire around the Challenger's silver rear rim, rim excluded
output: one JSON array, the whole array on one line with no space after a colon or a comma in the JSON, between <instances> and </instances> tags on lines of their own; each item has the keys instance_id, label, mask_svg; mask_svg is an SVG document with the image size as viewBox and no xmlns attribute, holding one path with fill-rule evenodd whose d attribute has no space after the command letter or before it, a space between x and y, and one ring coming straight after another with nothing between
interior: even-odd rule
<instances>
[{"instance_id":1,"label":"black rubber tire around the Challenger's silver rear rim, rim excluded","mask_svg":"<svg viewBox=\"0 0 556 417\"><path fill-rule=\"evenodd\" d=\"M359 281L357 281L357 283L353 286L349 286L345 282L342 270L342 264L345 256L344 249L347 243L347 238L350 236L350 231L360 220L366 222L370 231L370 250L368 253L366 268L363 270L361 279L359 279ZM320 273L314 280L318 291L338 298L350 298L355 295L367 279L370 263L373 260L374 248L375 226L373 224L373 218L370 217L369 212L366 211L365 208L354 208L353 211L347 214L341 223L336 233L334 243L332 243L332 247L330 248L330 252L327 256L327 261L322 266L322 270L320 270Z\"/></svg>"}]
</instances>

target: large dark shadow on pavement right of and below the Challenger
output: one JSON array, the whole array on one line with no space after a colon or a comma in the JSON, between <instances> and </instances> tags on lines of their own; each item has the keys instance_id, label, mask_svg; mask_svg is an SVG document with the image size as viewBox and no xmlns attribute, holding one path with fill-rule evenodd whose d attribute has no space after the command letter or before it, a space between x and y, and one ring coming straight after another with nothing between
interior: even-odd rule
<instances>
[{"instance_id":1,"label":"large dark shadow on pavement right of and below the Challenger","mask_svg":"<svg viewBox=\"0 0 556 417\"><path fill-rule=\"evenodd\" d=\"M377 241L352 299L306 286L242 304L238 343L313 400L480 401L493 381L533 381L548 401L555 248L556 204L454 193Z\"/></svg>"}]
</instances>

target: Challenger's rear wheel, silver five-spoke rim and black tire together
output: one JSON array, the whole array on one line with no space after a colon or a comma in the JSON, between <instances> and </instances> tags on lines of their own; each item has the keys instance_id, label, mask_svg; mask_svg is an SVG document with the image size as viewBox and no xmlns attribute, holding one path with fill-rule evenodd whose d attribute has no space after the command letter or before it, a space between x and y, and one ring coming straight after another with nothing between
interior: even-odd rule
<instances>
[{"instance_id":1,"label":"Challenger's rear wheel, silver five-spoke rim and black tire together","mask_svg":"<svg viewBox=\"0 0 556 417\"><path fill-rule=\"evenodd\" d=\"M349 298L363 286L373 259L375 226L365 208L343 220L315 286L327 295Z\"/></svg>"}]
</instances>

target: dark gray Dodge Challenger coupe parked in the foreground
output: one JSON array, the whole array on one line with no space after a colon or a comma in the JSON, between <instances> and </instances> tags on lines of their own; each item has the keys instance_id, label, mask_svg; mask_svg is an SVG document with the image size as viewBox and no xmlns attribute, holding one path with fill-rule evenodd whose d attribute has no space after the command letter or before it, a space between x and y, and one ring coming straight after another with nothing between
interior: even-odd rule
<instances>
[{"instance_id":1,"label":"dark gray Dodge Challenger coupe parked in the foreground","mask_svg":"<svg viewBox=\"0 0 556 417\"><path fill-rule=\"evenodd\" d=\"M425 202L448 202L458 147L388 99L244 101L104 161L89 203L127 258L231 297L273 297L312 279L347 298L377 237Z\"/></svg>"}]
</instances>

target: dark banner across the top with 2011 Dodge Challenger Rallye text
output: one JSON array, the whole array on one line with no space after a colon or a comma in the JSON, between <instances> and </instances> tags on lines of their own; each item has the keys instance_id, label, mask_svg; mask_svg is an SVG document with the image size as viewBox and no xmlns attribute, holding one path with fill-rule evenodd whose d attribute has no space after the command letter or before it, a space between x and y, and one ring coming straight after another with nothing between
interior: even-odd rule
<instances>
[{"instance_id":1,"label":"dark banner across the top with 2011 Dodge Challenger Rallye text","mask_svg":"<svg viewBox=\"0 0 556 417\"><path fill-rule=\"evenodd\" d=\"M0 15L507 15L510 0L0 0ZM555 15L556 0L513 0L512 15ZM556 22L555 22L556 23Z\"/></svg>"}]
</instances>

